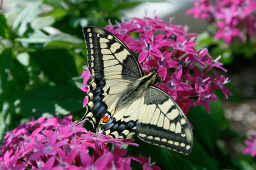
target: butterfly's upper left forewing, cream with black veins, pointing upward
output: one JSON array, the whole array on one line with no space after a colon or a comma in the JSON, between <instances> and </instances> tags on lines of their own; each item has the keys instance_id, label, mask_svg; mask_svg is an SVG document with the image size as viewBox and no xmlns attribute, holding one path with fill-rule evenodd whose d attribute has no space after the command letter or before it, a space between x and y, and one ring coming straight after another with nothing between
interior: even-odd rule
<instances>
[{"instance_id":1,"label":"butterfly's upper left forewing, cream with black veins, pointing upward","mask_svg":"<svg viewBox=\"0 0 256 170\"><path fill-rule=\"evenodd\" d=\"M116 36L98 27L85 27L83 32L93 78L134 80L143 76L129 48Z\"/></svg>"}]
</instances>

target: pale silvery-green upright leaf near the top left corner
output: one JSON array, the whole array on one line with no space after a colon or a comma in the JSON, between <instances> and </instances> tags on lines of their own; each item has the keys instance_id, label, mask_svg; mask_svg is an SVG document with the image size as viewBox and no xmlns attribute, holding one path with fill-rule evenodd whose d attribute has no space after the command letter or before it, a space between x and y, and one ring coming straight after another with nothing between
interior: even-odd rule
<instances>
[{"instance_id":1,"label":"pale silvery-green upright leaf near the top left corner","mask_svg":"<svg viewBox=\"0 0 256 170\"><path fill-rule=\"evenodd\" d=\"M28 25L35 19L40 11L42 1L38 0L20 11L13 22L13 30L18 29L19 36L27 31Z\"/></svg>"}]
</instances>

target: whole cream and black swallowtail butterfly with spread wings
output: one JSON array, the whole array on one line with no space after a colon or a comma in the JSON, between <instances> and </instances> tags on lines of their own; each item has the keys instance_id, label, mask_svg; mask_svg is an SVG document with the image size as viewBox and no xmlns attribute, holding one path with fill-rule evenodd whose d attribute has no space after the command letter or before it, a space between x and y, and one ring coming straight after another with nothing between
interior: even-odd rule
<instances>
[{"instance_id":1,"label":"whole cream and black swallowtail butterfly with spread wings","mask_svg":"<svg viewBox=\"0 0 256 170\"><path fill-rule=\"evenodd\" d=\"M84 27L88 70L86 113L93 127L111 138L138 138L188 155L193 132L188 118L166 92L154 86L157 74L143 75L131 50L114 34Z\"/></svg>"}]
</instances>

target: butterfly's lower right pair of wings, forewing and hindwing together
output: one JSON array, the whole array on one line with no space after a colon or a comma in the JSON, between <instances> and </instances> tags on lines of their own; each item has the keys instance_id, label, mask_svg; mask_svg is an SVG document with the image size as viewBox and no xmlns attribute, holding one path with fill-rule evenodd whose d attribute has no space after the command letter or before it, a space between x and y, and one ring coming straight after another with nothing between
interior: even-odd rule
<instances>
[{"instance_id":1,"label":"butterfly's lower right pair of wings, forewing and hindwing together","mask_svg":"<svg viewBox=\"0 0 256 170\"><path fill-rule=\"evenodd\" d=\"M186 115L172 97L154 86L130 106L118 110L102 130L113 138L136 133L143 141L184 154L189 154L193 146Z\"/></svg>"}]
</instances>

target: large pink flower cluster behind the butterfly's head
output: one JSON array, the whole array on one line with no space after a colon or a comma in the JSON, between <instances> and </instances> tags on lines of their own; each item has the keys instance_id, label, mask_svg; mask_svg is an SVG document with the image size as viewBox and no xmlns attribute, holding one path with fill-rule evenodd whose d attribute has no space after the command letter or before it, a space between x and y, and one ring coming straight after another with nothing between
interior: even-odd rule
<instances>
[{"instance_id":1,"label":"large pink flower cluster behind the butterfly's head","mask_svg":"<svg viewBox=\"0 0 256 170\"><path fill-rule=\"evenodd\" d=\"M173 25L157 17L145 17L116 22L115 25L107 25L105 29L115 34L138 55L138 61L146 73L153 68L157 69L161 78L157 86L172 96L185 113L188 113L190 106L199 104L204 104L205 110L210 112L208 101L218 98L213 94L215 89L221 89L226 98L227 94L231 94L225 87L228 78L220 76L215 70L219 68L226 71L218 61L220 57L212 59L206 48L196 51L196 34L188 33L187 27ZM131 33L138 34L138 38L134 38ZM84 92L90 78L88 74L88 70L82 74ZM86 103L84 100L84 105Z\"/></svg>"}]
</instances>

